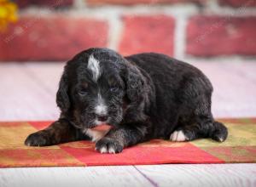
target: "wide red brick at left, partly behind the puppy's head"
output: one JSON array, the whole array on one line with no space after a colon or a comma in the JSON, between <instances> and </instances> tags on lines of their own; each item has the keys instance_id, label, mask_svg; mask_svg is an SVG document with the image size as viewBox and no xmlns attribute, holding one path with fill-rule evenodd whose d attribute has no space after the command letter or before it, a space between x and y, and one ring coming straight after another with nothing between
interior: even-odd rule
<instances>
[{"instance_id":1,"label":"wide red brick at left, partly behind the puppy's head","mask_svg":"<svg viewBox=\"0 0 256 187\"><path fill-rule=\"evenodd\" d=\"M67 60L85 48L106 47L108 24L61 15L22 17L0 38L0 60Z\"/></svg>"}]
</instances>

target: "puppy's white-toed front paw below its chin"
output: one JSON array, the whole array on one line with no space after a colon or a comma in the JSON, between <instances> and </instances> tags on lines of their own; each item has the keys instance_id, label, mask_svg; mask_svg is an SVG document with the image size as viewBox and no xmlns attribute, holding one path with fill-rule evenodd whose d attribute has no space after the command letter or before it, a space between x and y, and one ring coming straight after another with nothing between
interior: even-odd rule
<instances>
[{"instance_id":1,"label":"puppy's white-toed front paw below its chin","mask_svg":"<svg viewBox=\"0 0 256 187\"><path fill-rule=\"evenodd\" d=\"M96 150L101 153L120 153L124 146L120 144L117 140L103 138L96 143Z\"/></svg>"}]
</instances>

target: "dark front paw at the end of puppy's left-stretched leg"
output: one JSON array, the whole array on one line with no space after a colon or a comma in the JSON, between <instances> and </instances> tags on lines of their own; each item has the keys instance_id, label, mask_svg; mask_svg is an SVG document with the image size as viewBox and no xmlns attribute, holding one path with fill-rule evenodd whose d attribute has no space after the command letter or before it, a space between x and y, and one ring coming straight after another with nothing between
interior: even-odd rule
<instances>
[{"instance_id":1,"label":"dark front paw at the end of puppy's left-stretched leg","mask_svg":"<svg viewBox=\"0 0 256 187\"><path fill-rule=\"evenodd\" d=\"M30 134L26 138L25 144L28 146L46 146L49 145L50 143L49 139L47 139L44 133L38 132Z\"/></svg>"}]
</instances>

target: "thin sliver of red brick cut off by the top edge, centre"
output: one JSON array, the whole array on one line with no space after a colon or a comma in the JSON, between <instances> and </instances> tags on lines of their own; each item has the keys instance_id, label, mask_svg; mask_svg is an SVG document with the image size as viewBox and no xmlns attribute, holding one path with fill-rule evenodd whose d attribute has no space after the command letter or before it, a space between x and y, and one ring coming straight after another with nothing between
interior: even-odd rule
<instances>
[{"instance_id":1,"label":"thin sliver of red brick cut off by the top edge, centre","mask_svg":"<svg viewBox=\"0 0 256 187\"><path fill-rule=\"evenodd\" d=\"M172 3L196 3L204 4L207 0L86 0L89 5L103 4L119 4L119 5L134 5L134 4L172 4Z\"/></svg>"}]
</instances>

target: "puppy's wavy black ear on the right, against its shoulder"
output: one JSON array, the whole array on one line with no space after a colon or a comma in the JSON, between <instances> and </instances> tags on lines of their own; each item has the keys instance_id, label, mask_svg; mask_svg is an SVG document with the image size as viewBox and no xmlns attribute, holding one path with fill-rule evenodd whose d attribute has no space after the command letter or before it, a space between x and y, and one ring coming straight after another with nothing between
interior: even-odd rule
<instances>
[{"instance_id":1,"label":"puppy's wavy black ear on the right, against its shoulder","mask_svg":"<svg viewBox=\"0 0 256 187\"><path fill-rule=\"evenodd\" d=\"M125 65L126 96L129 104L125 111L126 122L140 122L146 119L144 109L148 103L148 88L145 77L136 65Z\"/></svg>"}]
</instances>

